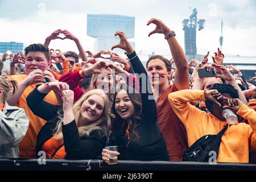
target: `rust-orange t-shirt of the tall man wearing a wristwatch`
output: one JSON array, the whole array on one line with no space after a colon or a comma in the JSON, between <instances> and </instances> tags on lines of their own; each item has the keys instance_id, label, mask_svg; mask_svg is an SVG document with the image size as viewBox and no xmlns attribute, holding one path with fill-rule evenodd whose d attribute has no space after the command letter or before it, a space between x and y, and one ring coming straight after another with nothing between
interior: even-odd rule
<instances>
[{"instance_id":1,"label":"rust-orange t-shirt of the tall man wearing a wristwatch","mask_svg":"<svg viewBox=\"0 0 256 182\"><path fill-rule=\"evenodd\" d=\"M156 103L158 123L166 140L166 147L171 161L182 161L182 156L188 148L185 126L174 113L168 100L168 94L177 90L175 85L168 86Z\"/></svg>"}]
</instances>

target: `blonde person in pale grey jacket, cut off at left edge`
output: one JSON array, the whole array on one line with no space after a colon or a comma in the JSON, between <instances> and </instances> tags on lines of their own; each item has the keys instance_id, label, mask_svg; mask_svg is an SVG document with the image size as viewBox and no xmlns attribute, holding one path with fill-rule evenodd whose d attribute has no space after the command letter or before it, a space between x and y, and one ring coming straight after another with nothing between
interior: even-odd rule
<instances>
[{"instance_id":1,"label":"blonde person in pale grey jacket, cut off at left edge","mask_svg":"<svg viewBox=\"0 0 256 182\"><path fill-rule=\"evenodd\" d=\"M19 143L27 133L29 119L24 109L6 102L17 82L0 76L0 158L18 158Z\"/></svg>"}]
</instances>

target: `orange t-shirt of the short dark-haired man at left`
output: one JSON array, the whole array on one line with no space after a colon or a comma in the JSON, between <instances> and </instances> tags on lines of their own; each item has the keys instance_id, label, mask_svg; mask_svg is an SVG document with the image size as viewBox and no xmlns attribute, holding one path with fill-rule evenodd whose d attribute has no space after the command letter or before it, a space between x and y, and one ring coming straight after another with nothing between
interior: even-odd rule
<instances>
[{"instance_id":1,"label":"orange t-shirt of the short dark-haired man at left","mask_svg":"<svg viewBox=\"0 0 256 182\"><path fill-rule=\"evenodd\" d=\"M16 80L18 82L24 80L24 78L26 77L27 75L9 76L9 78ZM16 103L16 106L21 107L26 111L27 117L28 119L30 119L30 126L28 127L27 133L19 145L19 151L20 151L19 158L36 159L35 145L36 145L38 133L41 130L42 126L46 123L44 119L32 113L26 101L28 94L30 94L30 92L32 92L32 90L34 90L36 85L38 84L43 84L43 83L39 82L39 83L28 86L20 96L19 101ZM55 105L58 104L57 98L53 91L47 94L47 96L44 98L44 101L49 102L51 104L55 104Z\"/></svg>"}]
</instances>

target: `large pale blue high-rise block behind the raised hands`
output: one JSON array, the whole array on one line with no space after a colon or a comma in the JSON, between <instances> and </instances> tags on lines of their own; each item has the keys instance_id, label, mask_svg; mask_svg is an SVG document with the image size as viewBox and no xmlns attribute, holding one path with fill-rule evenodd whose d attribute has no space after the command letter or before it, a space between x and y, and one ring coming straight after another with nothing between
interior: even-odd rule
<instances>
[{"instance_id":1,"label":"large pale blue high-rise block behind the raised hands","mask_svg":"<svg viewBox=\"0 0 256 182\"><path fill-rule=\"evenodd\" d=\"M125 32L128 39L134 38L135 18L122 15L87 14L87 35L96 38L94 52L110 50L119 38L114 36L116 31ZM135 43L130 42L135 49ZM123 50L115 49L122 53Z\"/></svg>"}]
</instances>

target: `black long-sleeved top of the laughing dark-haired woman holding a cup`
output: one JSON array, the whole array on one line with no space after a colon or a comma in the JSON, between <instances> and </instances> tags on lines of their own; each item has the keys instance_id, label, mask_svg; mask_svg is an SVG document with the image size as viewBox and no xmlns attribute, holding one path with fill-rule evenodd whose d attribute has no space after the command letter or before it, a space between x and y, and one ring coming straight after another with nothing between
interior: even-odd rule
<instances>
[{"instance_id":1,"label":"black long-sleeved top of the laughing dark-haired woman holding a cup","mask_svg":"<svg viewBox=\"0 0 256 182\"><path fill-rule=\"evenodd\" d=\"M143 78L139 80L139 89L142 100L142 123L137 127L139 134L138 142L130 142L125 136L127 123L119 121L116 126L119 132L110 134L109 145L117 145L120 160L169 160L166 143L157 121L156 105L151 90L150 79L139 60L135 51L131 55L127 55L133 66L134 72ZM146 82L142 82L146 81ZM114 121L115 122L115 121ZM128 145L127 145L128 144Z\"/></svg>"}]
</instances>

